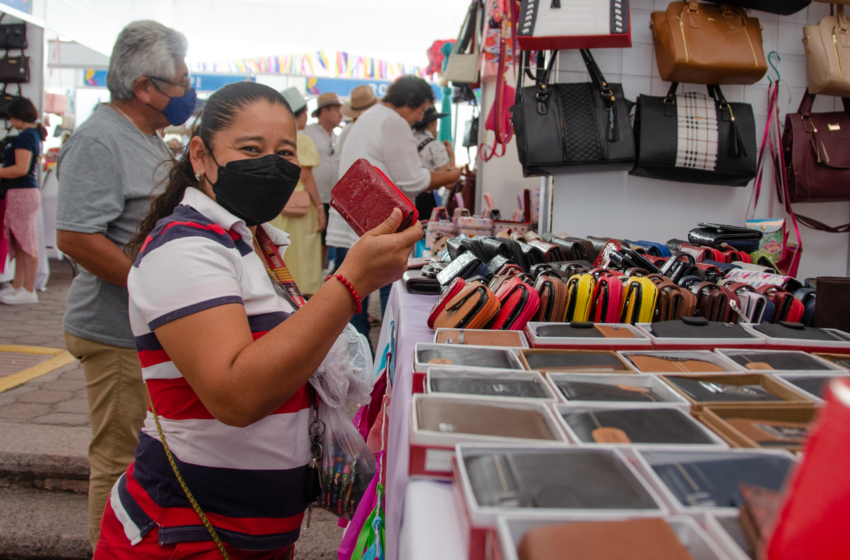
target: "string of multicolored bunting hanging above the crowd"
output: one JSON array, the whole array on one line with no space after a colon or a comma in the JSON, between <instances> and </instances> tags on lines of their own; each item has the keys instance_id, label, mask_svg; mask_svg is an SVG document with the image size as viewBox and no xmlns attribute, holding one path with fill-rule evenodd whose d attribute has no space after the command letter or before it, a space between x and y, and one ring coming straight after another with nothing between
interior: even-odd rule
<instances>
[{"instance_id":1,"label":"string of multicolored bunting hanging above the crowd","mask_svg":"<svg viewBox=\"0 0 850 560\"><path fill-rule=\"evenodd\" d=\"M238 58L224 61L196 62L192 72L227 72L238 74L289 74L328 78L395 80L405 74L425 77L421 66L389 62L342 51L313 51L259 58Z\"/></svg>"}]
</instances>

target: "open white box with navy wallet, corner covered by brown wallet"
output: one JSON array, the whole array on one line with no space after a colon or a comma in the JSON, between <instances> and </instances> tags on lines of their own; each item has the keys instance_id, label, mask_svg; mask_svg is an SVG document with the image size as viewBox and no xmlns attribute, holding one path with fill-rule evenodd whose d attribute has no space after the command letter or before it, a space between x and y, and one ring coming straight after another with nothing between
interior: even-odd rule
<instances>
[{"instance_id":1,"label":"open white box with navy wallet, corner covered by brown wallet","mask_svg":"<svg viewBox=\"0 0 850 560\"><path fill-rule=\"evenodd\" d=\"M781 449L634 449L633 465L674 514L737 515L739 484L783 488L794 455Z\"/></svg>"}]
</instances>

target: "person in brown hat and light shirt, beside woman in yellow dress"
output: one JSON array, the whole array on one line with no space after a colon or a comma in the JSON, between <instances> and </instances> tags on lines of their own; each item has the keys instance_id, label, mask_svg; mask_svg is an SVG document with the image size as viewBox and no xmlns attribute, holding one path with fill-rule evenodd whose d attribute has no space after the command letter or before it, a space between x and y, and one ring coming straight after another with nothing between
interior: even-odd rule
<instances>
[{"instance_id":1,"label":"person in brown hat and light shirt, beside woman in yellow dress","mask_svg":"<svg viewBox=\"0 0 850 560\"><path fill-rule=\"evenodd\" d=\"M339 179L339 150L337 149L337 134L334 132L339 123L342 122L340 107L342 102L337 94L323 93L318 98L318 107L311 114L319 122L307 125L304 134L310 137L322 162L313 168L313 178L319 189L319 198L325 207L325 216L330 211L331 189ZM327 259L328 247L325 245L325 234L322 231L322 265Z\"/></svg>"}]
</instances>

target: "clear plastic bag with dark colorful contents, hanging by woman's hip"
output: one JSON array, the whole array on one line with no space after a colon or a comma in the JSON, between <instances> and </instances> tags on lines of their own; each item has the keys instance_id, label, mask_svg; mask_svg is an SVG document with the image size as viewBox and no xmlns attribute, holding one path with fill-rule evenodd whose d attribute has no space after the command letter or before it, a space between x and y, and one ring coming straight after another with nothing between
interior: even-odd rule
<instances>
[{"instance_id":1,"label":"clear plastic bag with dark colorful contents, hanging by woman's hip","mask_svg":"<svg viewBox=\"0 0 850 560\"><path fill-rule=\"evenodd\" d=\"M350 520L375 477L375 456L341 408L319 404L323 426L317 505Z\"/></svg>"}]
</instances>

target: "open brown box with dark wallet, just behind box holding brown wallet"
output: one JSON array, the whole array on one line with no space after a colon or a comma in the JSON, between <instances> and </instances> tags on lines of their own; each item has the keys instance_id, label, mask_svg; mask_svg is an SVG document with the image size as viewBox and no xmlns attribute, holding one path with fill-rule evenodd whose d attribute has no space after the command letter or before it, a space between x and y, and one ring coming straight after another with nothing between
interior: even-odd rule
<instances>
[{"instance_id":1,"label":"open brown box with dark wallet, just behind box holding brown wallet","mask_svg":"<svg viewBox=\"0 0 850 560\"><path fill-rule=\"evenodd\" d=\"M695 414L706 407L746 405L760 408L812 404L799 391L763 373L670 374L659 377L691 403L691 410ZM683 380L682 385L677 385L676 380Z\"/></svg>"}]
</instances>

